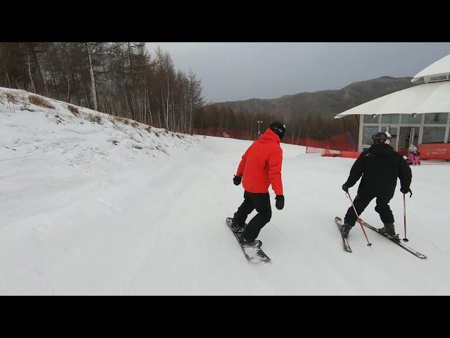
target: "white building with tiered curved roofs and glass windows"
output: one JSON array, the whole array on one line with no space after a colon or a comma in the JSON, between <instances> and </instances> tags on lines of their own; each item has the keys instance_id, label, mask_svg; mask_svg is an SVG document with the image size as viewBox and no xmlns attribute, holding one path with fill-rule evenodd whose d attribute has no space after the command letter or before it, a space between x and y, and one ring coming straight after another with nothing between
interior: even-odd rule
<instances>
[{"instance_id":1,"label":"white building with tiered curved roofs and glass windows","mask_svg":"<svg viewBox=\"0 0 450 338\"><path fill-rule=\"evenodd\" d=\"M447 143L450 129L450 55L413 77L414 87L382 96L335 116L359 115L358 151L386 130L395 150L411 144Z\"/></svg>"}]
</instances>

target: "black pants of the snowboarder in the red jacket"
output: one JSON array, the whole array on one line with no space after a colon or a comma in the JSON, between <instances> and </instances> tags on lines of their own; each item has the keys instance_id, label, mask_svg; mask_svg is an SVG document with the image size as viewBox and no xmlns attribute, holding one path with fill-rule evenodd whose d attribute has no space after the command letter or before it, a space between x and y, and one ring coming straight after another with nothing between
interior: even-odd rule
<instances>
[{"instance_id":1,"label":"black pants of the snowboarder in the red jacket","mask_svg":"<svg viewBox=\"0 0 450 338\"><path fill-rule=\"evenodd\" d=\"M250 213L252 213L255 209L258 213L254 218L252 218L252 220L250 220L243 231L243 237L250 242L255 241L262 227L269 223L269 220L272 217L268 192L262 194L244 192L243 204L240 205L238 211L236 211L233 217L236 224L243 227L248 215L250 215Z\"/></svg>"}]
</instances>

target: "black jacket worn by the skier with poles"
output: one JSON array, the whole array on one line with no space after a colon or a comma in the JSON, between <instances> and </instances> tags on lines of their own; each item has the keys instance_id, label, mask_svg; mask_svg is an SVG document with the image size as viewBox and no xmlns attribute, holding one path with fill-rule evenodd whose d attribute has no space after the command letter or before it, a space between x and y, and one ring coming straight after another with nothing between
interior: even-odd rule
<instances>
[{"instance_id":1,"label":"black jacket worn by the skier with poles","mask_svg":"<svg viewBox=\"0 0 450 338\"><path fill-rule=\"evenodd\" d=\"M411 184L411 168L397 151L389 144L373 144L363 151L350 170L345 185L353 187L361 177L358 194L392 199L397 177L401 188L409 189Z\"/></svg>"}]
</instances>

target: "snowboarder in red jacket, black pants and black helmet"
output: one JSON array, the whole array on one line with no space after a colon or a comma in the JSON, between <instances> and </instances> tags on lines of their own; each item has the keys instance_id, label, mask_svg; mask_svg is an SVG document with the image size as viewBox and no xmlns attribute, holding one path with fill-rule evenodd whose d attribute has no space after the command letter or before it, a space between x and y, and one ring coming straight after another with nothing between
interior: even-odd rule
<instances>
[{"instance_id":1,"label":"snowboarder in red jacket, black pants and black helmet","mask_svg":"<svg viewBox=\"0 0 450 338\"><path fill-rule=\"evenodd\" d=\"M243 182L244 201L233 217L233 230L241 233L244 244L262 246L257 240L262 227L269 223L272 216L269 185L276 194L275 206L278 210L284 207L283 183L281 182L281 163L283 150L280 141L286 132L285 125L280 121L272 123L264 134L245 151L239 163L238 171L233 177L233 183ZM245 220L253 210L258 212L246 227Z\"/></svg>"}]
</instances>

